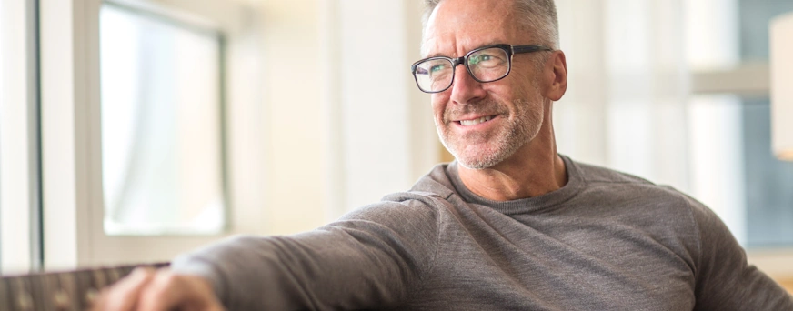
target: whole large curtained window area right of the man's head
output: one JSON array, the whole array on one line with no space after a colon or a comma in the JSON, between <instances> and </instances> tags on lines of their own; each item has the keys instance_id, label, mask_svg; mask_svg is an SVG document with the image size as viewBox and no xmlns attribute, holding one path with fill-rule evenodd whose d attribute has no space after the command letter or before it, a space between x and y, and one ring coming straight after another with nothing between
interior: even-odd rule
<instances>
[{"instance_id":1,"label":"whole large curtained window area right of the man's head","mask_svg":"<svg viewBox=\"0 0 793 311\"><path fill-rule=\"evenodd\" d=\"M750 262L793 279L793 164L771 155L768 123L768 21L793 3L556 2L559 152L694 196Z\"/></svg>"}]
</instances>

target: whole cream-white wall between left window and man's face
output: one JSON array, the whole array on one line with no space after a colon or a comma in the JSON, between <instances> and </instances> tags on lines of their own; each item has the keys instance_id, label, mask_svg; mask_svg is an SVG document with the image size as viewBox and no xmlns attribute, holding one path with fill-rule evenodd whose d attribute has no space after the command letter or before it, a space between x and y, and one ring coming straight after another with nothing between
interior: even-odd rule
<instances>
[{"instance_id":1,"label":"whole cream-white wall between left window and man's face","mask_svg":"<svg viewBox=\"0 0 793 311\"><path fill-rule=\"evenodd\" d=\"M429 98L409 74L419 58L420 7L257 3L267 175L259 233L320 226L406 190L437 162Z\"/></svg>"}]
</instances>

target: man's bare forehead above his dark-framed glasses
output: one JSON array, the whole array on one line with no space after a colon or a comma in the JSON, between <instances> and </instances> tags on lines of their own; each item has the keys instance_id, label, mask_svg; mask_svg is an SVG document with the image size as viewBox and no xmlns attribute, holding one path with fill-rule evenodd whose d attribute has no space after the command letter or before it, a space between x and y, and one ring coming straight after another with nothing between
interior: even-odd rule
<instances>
[{"instance_id":1,"label":"man's bare forehead above his dark-framed glasses","mask_svg":"<svg viewBox=\"0 0 793 311\"><path fill-rule=\"evenodd\" d=\"M452 55L459 49L506 43L514 34L512 1L445 0L427 18L422 55Z\"/></svg>"}]
</instances>

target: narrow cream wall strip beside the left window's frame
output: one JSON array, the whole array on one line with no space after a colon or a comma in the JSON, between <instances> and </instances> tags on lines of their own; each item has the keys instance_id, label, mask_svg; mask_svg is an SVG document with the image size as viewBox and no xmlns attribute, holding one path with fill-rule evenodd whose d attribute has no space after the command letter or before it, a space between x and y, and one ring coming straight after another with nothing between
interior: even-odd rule
<instances>
[{"instance_id":1,"label":"narrow cream wall strip beside the left window's frame","mask_svg":"<svg viewBox=\"0 0 793 311\"><path fill-rule=\"evenodd\" d=\"M314 0L265 1L259 7L266 133L262 233L293 233L324 222L318 5Z\"/></svg>"}]
</instances>

